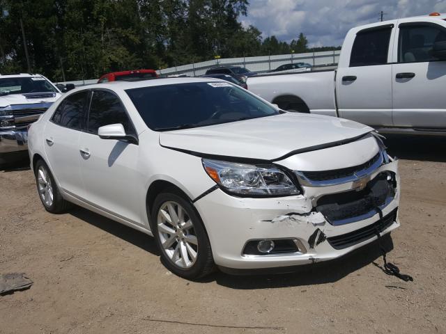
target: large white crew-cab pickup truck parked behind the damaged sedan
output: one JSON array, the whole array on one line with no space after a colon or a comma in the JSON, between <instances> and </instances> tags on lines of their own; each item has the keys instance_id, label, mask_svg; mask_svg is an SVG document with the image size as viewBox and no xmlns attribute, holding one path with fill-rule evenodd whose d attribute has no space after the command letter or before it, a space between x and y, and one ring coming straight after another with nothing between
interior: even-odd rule
<instances>
[{"instance_id":1,"label":"large white crew-cab pickup truck parked behind the damaged sedan","mask_svg":"<svg viewBox=\"0 0 446 334\"><path fill-rule=\"evenodd\" d=\"M247 86L284 110L446 135L445 20L431 13L353 28L337 69L258 75Z\"/></svg>"}]
</instances>

